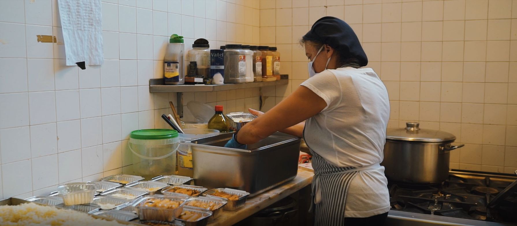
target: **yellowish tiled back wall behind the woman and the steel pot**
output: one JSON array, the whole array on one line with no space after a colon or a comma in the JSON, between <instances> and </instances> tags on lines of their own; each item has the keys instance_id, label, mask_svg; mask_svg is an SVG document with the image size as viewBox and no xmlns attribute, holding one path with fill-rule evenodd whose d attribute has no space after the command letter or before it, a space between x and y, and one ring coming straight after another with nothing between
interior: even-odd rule
<instances>
[{"instance_id":1,"label":"yellowish tiled back wall behind the woman and the steel pot","mask_svg":"<svg viewBox=\"0 0 517 226\"><path fill-rule=\"evenodd\" d=\"M261 44L277 46L290 84L262 89L275 106L308 78L299 39L344 19L388 88L390 127L456 135L451 168L517 170L516 0L261 0Z\"/></svg>"}]
</instances>

